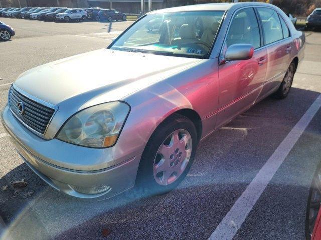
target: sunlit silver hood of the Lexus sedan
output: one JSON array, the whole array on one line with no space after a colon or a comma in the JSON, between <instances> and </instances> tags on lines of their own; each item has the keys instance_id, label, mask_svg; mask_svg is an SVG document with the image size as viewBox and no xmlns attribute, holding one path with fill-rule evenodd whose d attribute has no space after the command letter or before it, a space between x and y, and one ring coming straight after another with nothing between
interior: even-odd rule
<instances>
[{"instance_id":1,"label":"sunlit silver hood of the Lexus sedan","mask_svg":"<svg viewBox=\"0 0 321 240\"><path fill-rule=\"evenodd\" d=\"M48 103L82 108L121 100L200 61L100 49L28 70L14 84Z\"/></svg>"}]
</instances>

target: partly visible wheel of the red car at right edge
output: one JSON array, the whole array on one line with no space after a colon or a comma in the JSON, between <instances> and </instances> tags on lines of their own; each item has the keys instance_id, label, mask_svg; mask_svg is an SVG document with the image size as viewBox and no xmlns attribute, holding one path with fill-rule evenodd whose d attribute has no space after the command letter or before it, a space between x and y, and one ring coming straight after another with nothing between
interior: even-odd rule
<instances>
[{"instance_id":1,"label":"partly visible wheel of the red car at right edge","mask_svg":"<svg viewBox=\"0 0 321 240\"><path fill-rule=\"evenodd\" d=\"M314 174L312 185L307 200L306 219L305 219L305 237L307 240L311 239L316 216L320 210L321 204L321 189L318 185L321 184L321 165L319 164Z\"/></svg>"}]
</instances>

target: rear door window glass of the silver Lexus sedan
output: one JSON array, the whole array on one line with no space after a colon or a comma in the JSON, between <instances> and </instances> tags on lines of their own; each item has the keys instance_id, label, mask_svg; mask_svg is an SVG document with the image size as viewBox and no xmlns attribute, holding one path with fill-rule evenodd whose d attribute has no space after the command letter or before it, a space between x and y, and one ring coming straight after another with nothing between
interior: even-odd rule
<instances>
[{"instance_id":1,"label":"rear door window glass of the silver Lexus sedan","mask_svg":"<svg viewBox=\"0 0 321 240\"><path fill-rule=\"evenodd\" d=\"M264 7L258 7L257 10L262 21L265 44L282 40L283 31L277 12Z\"/></svg>"}]
</instances>

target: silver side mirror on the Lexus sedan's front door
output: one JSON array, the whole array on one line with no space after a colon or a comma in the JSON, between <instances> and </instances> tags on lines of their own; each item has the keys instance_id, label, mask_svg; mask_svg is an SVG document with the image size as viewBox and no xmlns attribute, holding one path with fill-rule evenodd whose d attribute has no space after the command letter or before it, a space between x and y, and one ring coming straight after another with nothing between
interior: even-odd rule
<instances>
[{"instance_id":1,"label":"silver side mirror on the Lexus sedan's front door","mask_svg":"<svg viewBox=\"0 0 321 240\"><path fill-rule=\"evenodd\" d=\"M227 48L224 61L248 60L254 53L254 47L251 44L234 44Z\"/></svg>"}]
</instances>

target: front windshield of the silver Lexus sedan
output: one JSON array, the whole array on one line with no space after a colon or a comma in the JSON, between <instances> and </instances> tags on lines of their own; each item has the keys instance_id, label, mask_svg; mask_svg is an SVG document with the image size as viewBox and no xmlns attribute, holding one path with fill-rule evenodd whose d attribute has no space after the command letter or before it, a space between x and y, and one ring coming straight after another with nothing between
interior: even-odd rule
<instances>
[{"instance_id":1,"label":"front windshield of the silver Lexus sedan","mask_svg":"<svg viewBox=\"0 0 321 240\"><path fill-rule=\"evenodd\" d=\"M224 11L149 14L110 46L114 50L204 58Z\"/></svg>"}]
</instances>

